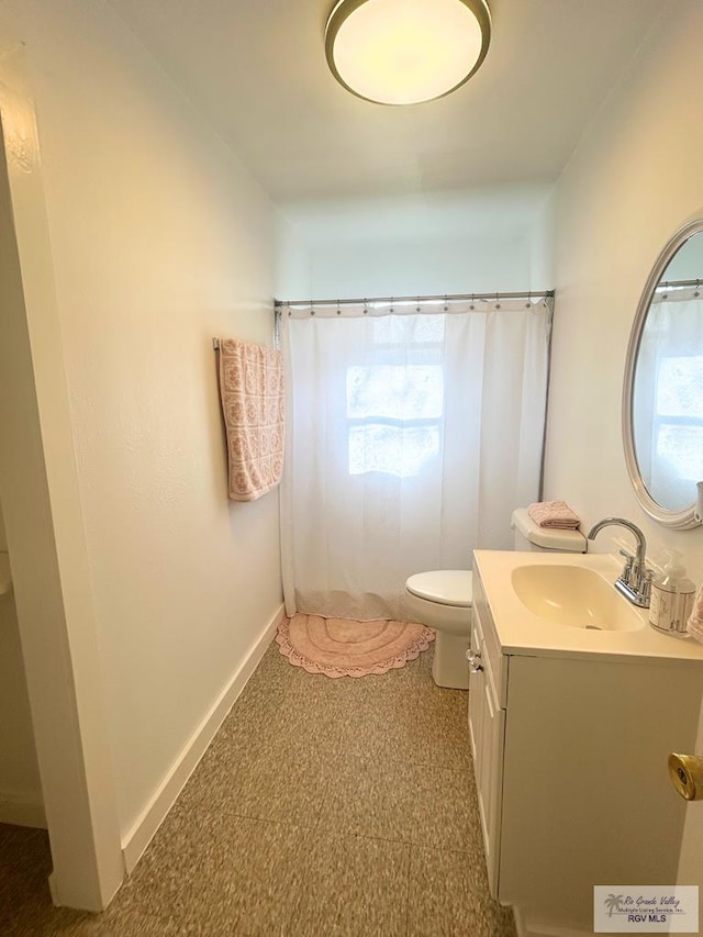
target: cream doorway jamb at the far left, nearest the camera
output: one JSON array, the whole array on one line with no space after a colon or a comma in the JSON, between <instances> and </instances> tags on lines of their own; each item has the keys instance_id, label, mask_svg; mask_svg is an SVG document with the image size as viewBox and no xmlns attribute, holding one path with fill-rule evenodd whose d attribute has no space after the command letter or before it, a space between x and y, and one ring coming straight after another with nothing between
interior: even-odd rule
<instances>
[{"instance_id":1,"label":"cream doorway jamb at the far left, nearest the camera","mask_svg":"<svg viewBox=\"0 0 703 937\"><path fill-rule=\"evenodd\" d=\"M100 910L124 863L23 53L0 55L0 491L49 885L57 903Z\"/></svg>"}]
</instances>

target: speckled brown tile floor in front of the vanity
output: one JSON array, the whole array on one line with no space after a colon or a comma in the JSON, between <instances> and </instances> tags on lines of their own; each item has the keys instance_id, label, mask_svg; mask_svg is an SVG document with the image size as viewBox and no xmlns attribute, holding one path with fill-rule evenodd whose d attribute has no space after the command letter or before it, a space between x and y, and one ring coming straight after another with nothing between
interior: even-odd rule
<instances>
[{"instance_id":1,"label":"speckled brown tile floor in front of the vanity","mask_svg":"<svg viewBox=\"0 0 703 937\"><path fill-rule=\"evenodd\" d=\"M272 644L104 914L54 908L46 834L0 826L0 935L514 937L488 891L466 693L431 665L330 680Z\"/></svg>"}]
</instances>

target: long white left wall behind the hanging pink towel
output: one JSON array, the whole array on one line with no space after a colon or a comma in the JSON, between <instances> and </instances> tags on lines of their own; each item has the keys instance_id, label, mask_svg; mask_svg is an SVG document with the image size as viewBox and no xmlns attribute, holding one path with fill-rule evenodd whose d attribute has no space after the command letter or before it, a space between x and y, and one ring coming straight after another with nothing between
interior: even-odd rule
<instances>
[{"instance_id":1,"label":"long white left wall behind the hanging pink towel","mask_svg":"<svg viewBox=\"0 0 703 937\"><path fill-rule=\"evenodd\" d=\"M226 499L211 345L271 342L275 212L105 4L9 0L0 37L36 100L127 836L280 603L276 494Z\"/></svg>"}]
</instances>

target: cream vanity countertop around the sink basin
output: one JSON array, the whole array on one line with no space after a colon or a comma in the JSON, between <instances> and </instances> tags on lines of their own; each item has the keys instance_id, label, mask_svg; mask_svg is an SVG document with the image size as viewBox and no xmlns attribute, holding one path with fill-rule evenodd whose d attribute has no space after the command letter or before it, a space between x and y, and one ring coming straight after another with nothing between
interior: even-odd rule
<instances>
[{"instance_id":1,"label":"cream vanity countertop around the sink basin","mask_svg":"<svg viewBox=\"0 0 703 937\"><path fill-rule=\"evenodd\" d=\"M545 621L526 609L513 591L513 569L540 564L581 566L613 583L622 570L622 564L609 555L475 550L473 557L503 654L531 657L598 655L601 659L628 659L631 662L633 658L644 658L643 662L685 661L692 666L703 666L703 644L693 638L677 638L655 631L648 622L647 609L632 605L643 620L644 627L639 631L587 631ZM623 595L616 594L622 602L627 603Z\"/></svg>"}]
</instances>

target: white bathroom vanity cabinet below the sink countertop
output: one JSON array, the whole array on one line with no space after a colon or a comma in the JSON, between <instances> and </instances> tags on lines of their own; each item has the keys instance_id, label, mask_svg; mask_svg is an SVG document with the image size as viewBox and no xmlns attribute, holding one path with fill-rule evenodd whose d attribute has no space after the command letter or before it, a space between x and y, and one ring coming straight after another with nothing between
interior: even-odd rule
<instances>
[{"instance_id":1,"label":"white bathroom vanity cabinet below the sink countertop","mask_svg":"<svg viewBox=\"0 0 703 937\"><path fill-rule=\"evenodd\" d=\"M629 656L607 635L590 652L528 637L516 646L480 556L469 729L491 894L526 934L592 934L593 885L677 881L687 805L667 758L694 750L703 649Z\"/></svg>"}]
</instances>

